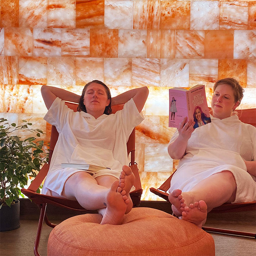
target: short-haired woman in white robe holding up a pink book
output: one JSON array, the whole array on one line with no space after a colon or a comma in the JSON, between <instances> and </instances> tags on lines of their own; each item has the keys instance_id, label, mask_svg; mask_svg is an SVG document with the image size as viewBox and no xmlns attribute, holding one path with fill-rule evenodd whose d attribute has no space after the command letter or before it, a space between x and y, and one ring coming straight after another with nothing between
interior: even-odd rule
<instances>
[{"instance_id":1,"label":"short-haired woman in white robe holding up a pink book","mask_svg":"<svg viewBox=\"0 0 256 256\"><path fill-rule=\"evenodd\" d=\"M172 210L199 227L214 207L256 200L256 128L233 115L244 89L225 78L213 90L212 122L193 129L184 118L168 145L180 159L169 189Z\"/></svg>"}]
</instances>

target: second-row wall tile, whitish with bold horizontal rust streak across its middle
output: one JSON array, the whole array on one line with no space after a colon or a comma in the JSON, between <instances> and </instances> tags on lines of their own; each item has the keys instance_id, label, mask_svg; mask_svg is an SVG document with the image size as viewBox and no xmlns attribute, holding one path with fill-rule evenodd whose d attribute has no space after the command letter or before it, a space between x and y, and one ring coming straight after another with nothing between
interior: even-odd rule
<instances>
[{"instance_id":1,"label":"second-row wall tile, whitish with bold horizontal rust streak across its middle","mask_svg":"<svg viewBox=\"0 0 256 256\"><path fill-rule=\"evenodd\" d=\"M34 28L34 56L61 55L61 28Z\"/></svg>"}]
</instances>

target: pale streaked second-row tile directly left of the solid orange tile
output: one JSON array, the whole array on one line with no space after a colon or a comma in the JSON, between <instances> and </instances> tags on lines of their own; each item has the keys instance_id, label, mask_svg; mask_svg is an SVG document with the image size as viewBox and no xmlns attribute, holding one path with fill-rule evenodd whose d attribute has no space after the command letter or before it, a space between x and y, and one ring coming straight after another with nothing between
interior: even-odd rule
<instances>
[{"instance_id":1,"label":"pale streaked second-row tile directly left of the solid orange tile","mask_svg":"<svg viewBox=\"0 0 256 256\"><path fill-rule=\"evenodd\" d=\"M86 28L62 29L62 56L89 56L90 30Z\"/></svg>"}]
</instances>

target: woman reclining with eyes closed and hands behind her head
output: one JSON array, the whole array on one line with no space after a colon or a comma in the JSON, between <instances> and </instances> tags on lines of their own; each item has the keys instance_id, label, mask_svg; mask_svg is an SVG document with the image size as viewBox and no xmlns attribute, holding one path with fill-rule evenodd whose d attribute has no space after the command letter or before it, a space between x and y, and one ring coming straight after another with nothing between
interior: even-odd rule
<instances>
[{"instance_id":1,"label":"woman reclining with eyes closed and hands behind her head","mask_svg":"<svg viewBox=\"0 0 256 256\"><path fill-rule=\"evenodd\" d=\"M122 223L132 209L129 192L134 175L127 166L126 142L133 128L143 121L140 114L148 88L140 87L111 98L109 88L94 80L85 85L82 95L43 85L43 100L48 112L44 119L59 133L42 193L77 200L85 209L98 209L101 224ZM78 112L64 101L79 103ZM111 105L124 104L112 114ZM95 173L62 163L103 166ZM109 169L107 169L109 168Z\"/></svg>"}]
</instances>

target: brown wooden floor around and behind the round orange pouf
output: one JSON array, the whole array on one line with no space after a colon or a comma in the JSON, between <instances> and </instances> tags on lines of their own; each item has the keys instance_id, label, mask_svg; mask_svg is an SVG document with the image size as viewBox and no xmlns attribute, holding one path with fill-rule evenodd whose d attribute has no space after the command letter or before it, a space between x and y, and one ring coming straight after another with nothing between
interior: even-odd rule
<instances>
[{"instance_id":1,"label":"brown wooden floor around and behind the round orange pouf","mask_svg":"<svg viewBox=\"0 0 256 256\"><path fill-rule=\"evenodd\" d=\"M145 207L145 205L142 205ZM156 208L153 206L153 208ZM55 223L65 219L63 215L54 217ZM52 220L52 219L51 219ZM34 237L38 217L21 214L21 226L16 230L0 232L0 256L33 256ZM208 214L207 226L256 232L256 213ZM47 255L47 240L52 228L44 224L39 252ZM255 256L256 239L211 233L215 242L216 256ZM138 255L139 256L139 255Z\"/></svg>"}]
</instances>

